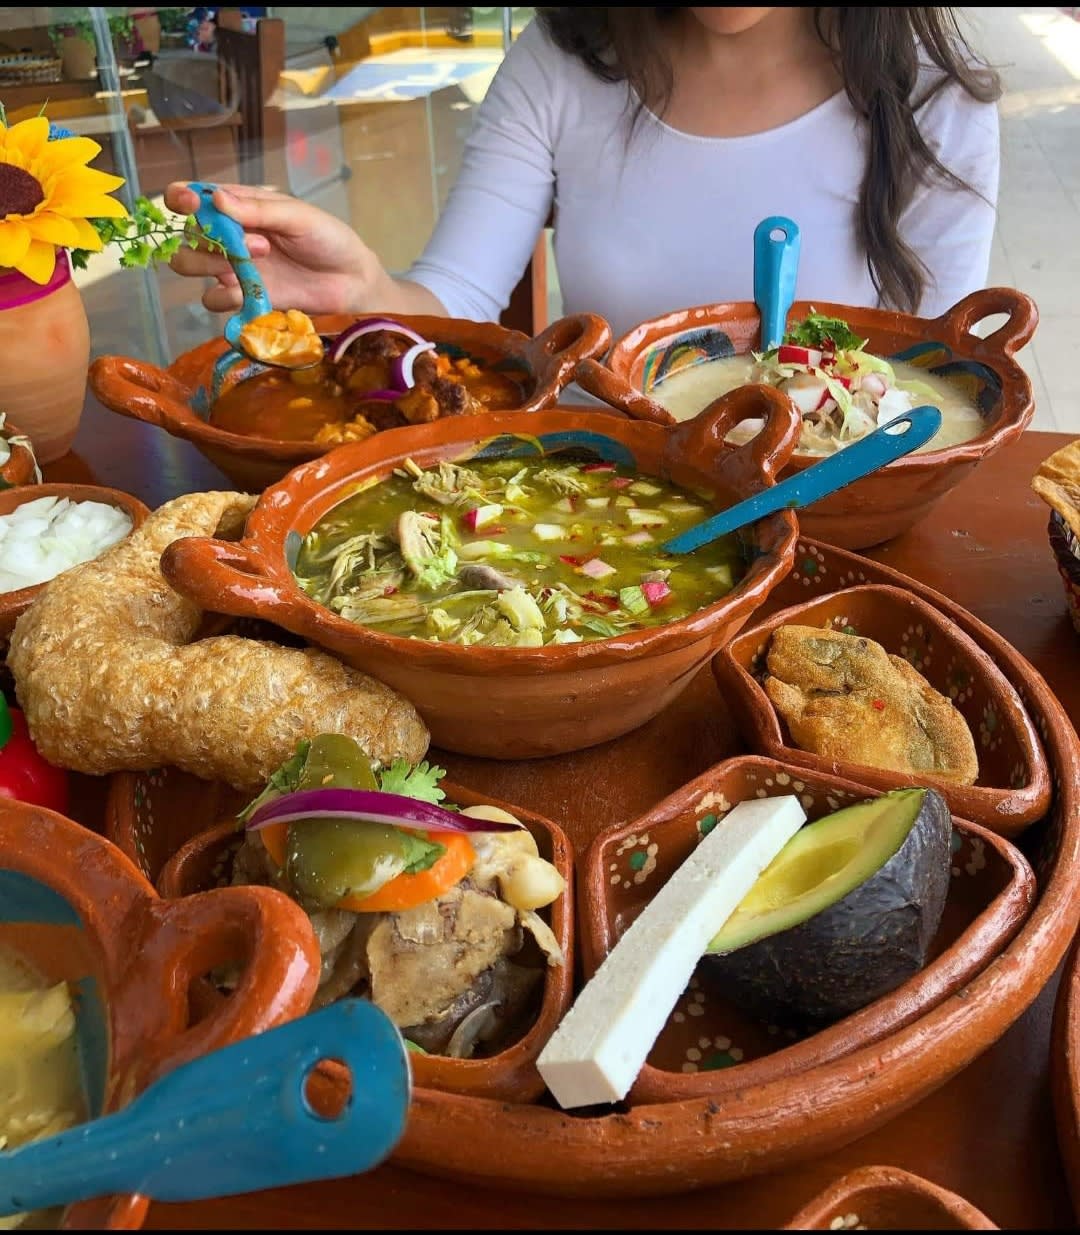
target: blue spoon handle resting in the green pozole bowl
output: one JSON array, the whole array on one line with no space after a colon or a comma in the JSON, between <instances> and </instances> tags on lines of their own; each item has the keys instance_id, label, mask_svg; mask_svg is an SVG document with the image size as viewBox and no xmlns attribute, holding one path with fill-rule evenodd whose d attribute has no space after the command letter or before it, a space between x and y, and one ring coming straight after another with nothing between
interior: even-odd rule
<instances>
[{"instance_id":1,"label":"blue spoon handle resting in the green pozole bowl","mask_svg":"<svg viewBox=\"0 0 1080 1235\"><path fill-rule=\"evenodd\" d=\"M829 454L802 472L781 480L770 489L755 493L753 498L736 501L712 519L688 527L660 547L667 553L692 553L702 545L745 527L755 519L764 519L777 510L798 510L824 498L844 485L851 484L877 468L885 467L903 454L909 454L928 442L942 427L942 414L937 408L924 405L912 408L872 433L860 437L835 454Z\"/></svg>"}]
</instances>

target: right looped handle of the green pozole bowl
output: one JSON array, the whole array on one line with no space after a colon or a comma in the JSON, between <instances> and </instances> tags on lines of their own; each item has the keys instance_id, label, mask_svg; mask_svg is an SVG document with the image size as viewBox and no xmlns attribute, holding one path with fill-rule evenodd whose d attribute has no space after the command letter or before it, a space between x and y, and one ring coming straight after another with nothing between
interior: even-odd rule
<instances>
[{"instance_id":1,"label":"right looped handle of the green pozole bowl","mask_svg":"<svg viewBox=\"0 0 1080 1235\"><path fill-rule=\"evenodd\" d=\"M741 420L761 420L750 441L732 446L728 433ZM775 387L736 387L714 399L704 411L678 424L670 433L665 456L706 471L732 498L746 498L776 483L798 445L802 416Z\"/></svg>"}]
</instances>

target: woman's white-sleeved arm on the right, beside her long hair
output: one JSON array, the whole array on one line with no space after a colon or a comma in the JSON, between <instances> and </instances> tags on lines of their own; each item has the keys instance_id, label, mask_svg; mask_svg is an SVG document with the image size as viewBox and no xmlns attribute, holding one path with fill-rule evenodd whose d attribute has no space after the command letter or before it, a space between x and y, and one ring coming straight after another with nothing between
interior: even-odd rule
<instances>
[{"instance_id":1,"label":"woman's white-sleeved arm on the right, beside her long hair","mask_svg":"<svg viewBox=\"0 0 1080 1235\"><path fill-rule=\"evenodd\" d=\"M937 317L986 287L1001 164L997 105L950 84L917 119L938 159L974 190L935 178L916 190L901 219L901 235L929 270L918 312Z\"/></svg>"}]
</instances>

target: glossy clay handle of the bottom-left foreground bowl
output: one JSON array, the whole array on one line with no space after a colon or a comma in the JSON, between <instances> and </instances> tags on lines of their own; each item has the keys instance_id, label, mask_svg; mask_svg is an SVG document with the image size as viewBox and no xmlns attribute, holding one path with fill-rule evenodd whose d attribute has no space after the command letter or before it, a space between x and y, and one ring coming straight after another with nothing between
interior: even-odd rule
<instances>
[{"instance_id":1,"label":"glossy clay handle of the bottom-left foreground bowl","mask_svg":"<svg viewBox=\"0 0 1080 1235\"><path fill-rule=\"evenodd\" d=\"M255 885L150 902L137 956L114 997L124 1009L114 1023L137 1020L145 1032L147 1021L157 1020L158 1045L147 1050L154 1035L131 1044L138 1089L196 1056L302 1016L321 966L304 910L283 892ZM189 1020L192 984L237 961L234 992L195 1024L169 1032Z\"/></svg>"}]
</instances>

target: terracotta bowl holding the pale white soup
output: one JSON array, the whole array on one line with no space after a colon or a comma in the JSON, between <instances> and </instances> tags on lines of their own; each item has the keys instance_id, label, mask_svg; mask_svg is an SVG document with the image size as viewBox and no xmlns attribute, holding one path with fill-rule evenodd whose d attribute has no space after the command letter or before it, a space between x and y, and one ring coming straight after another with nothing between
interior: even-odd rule
<instances>
[{"instance_id":1,"label":"terracotta bowl holding the pale white soup","mask_svg":"<svg viewBox=\"0 0 1080 1235\"><path fill-rule=\"evenodd\" d=\"M1031 424L1032 384L1016 361L1038 325L1031 296L1012 288L974 291L940 317L914 317L854 305L796 301L788 322L808 312L843 317L869 340L877 356L908 361L963 385L985 417L977 437L958 446L907 454L799 511L807 536L843 548L866 548L891 540L923 519L934 503L976 464L1001 450ZM986 338L971 329L987 317L1007 321ZM761 345L761 315L751 301L701 305L641 322L618 338L603 362L587 358L578 383L629 416L675 424L650 394L682 368L755 351ZM818 456L796 453L781 473L801 471Z\"/></svg>"}]
</instances>

